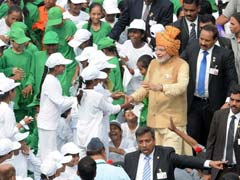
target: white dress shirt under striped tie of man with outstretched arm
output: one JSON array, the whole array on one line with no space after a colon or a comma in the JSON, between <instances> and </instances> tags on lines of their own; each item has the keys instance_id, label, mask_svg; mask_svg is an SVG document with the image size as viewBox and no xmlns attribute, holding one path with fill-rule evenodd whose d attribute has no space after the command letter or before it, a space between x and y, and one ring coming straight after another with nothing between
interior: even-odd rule
<instances>
[{"instance_id":1,"label":"white dress shirt under striped tie of man with outstretched arm","mask_svg":"<svg viewBox=\"0 0 240 180\"><path fill-rule=\"evenodd\" d=\"M150 179L153 179L153 155L154 155L154 151L155 149L152 151L152 153L149 155L150 157L150 168L151 168L151 176ZM137 168L137 174L136 174L136 180L142 180L143 177L143 171L144 171L144 165L146 163L146 160L144 159L146 155L141 153L139 156L139 160L138 160L138 168Z\"/></svg>"}]
</instances>

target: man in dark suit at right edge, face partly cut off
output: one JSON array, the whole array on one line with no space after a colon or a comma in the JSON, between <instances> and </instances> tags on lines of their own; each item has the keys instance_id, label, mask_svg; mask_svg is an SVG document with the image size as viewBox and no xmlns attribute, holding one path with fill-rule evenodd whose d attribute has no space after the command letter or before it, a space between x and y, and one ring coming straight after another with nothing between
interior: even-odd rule
<instances>
[{"instance_id":1,"label":"man in dark suit at right edge, face partly cut off","mask_svg":"<svg viewBox=\"0 0 240 180\"><path fill-rule=\"evenodd\" d=\"M230 108L214 113L208 136L207 158L228 161L223 170L208 171L212 180L219 179L227 172L240 174L240 85L232 88L229 104Z\"/></svg>"}]
</instances>

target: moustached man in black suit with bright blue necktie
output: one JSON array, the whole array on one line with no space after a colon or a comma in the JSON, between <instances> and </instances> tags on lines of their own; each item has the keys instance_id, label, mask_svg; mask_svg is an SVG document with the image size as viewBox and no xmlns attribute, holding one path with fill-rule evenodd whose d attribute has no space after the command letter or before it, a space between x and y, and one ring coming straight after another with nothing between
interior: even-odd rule
<instances>
[{"instance_id":1,"label":"moustached man in black suit with bright blue necktie","mask_svg":"<svg viewBox=\"0 0 240 180\"><path fill-rule=\"evenodd\" d=\"M190 73L187 131L204 146L214 111L225 103L230 87L237 83L233 52L216 46L217 38L217 28L206 25L199 41L189 45L181 55L189 64Z\"/></svg>"}]
</instances>

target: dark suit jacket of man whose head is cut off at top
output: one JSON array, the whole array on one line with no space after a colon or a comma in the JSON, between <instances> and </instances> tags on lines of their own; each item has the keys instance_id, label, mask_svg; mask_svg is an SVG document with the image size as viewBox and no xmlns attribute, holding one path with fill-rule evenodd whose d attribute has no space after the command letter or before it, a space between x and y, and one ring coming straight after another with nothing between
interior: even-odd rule
<instances>
[{"instance_id":1,"label":"dark suit jacket of man whose head is cut off at top","mask_svg":"<svg viewBox=\"0 0 240 180\"><path fill-rule=\"evenodd\" d=\"M124 10L109 36L115 40L134 19L141 19L143 0L124 0ZM173 21L173 4L169 0L153 0L147 17L146 29L149 33L149 21L154 20L164 26Z\"/></svg>"}]
</instances>

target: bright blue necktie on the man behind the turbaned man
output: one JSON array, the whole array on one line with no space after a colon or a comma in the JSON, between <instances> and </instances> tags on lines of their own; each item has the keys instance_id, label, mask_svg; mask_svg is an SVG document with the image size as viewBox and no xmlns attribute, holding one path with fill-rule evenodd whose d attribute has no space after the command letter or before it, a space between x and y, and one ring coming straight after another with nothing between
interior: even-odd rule
<instances>
[{"instance_id":1,"label":"bright blue necktie on the man behind the turbaned man","mask_svg":"<svg viewBox=\"0 0 240 180\"><path fill-rule=\"evenodd\" d=\"M203 58L200 65L200 70L198 74L198 95L204 96L205 92L205 76L206 76L206 68L207 68L207 51L203 51Z\"/></svg>"}]
</instances>

